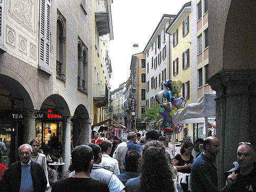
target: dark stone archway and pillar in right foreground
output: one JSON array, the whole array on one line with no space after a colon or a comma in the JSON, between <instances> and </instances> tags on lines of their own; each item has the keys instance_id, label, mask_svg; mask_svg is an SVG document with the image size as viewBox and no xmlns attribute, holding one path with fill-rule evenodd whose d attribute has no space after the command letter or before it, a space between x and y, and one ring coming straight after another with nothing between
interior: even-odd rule
<instances>
[{"instance_id":1,"label":"dark stone archway and pillar in right foreground","mask_svg":"<svg viewBox=\"0 0 256 192\"><path fill-rule=\"evenodd\" d=\"M255 10L256 2L250 0L209 1L209 84L217 97L221 150L216 164L221 176L237 160L239 142L256 142Z\"/></svg>"}]
</instances>

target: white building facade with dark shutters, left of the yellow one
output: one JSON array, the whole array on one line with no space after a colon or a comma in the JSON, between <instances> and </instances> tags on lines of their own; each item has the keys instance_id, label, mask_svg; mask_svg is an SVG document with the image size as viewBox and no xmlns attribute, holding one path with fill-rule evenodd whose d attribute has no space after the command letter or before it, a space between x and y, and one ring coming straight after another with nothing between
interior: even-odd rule
<instances>
[{"instance_id":1,"label":"white building facade with dark shutters, left of the yellow one","mask_svg":"<svg viewBox=\"0 0 256 192\"><path fill-rule=\"evenodd\" d=\"M155 95L161 91L161 83L171 79L171 36L166 28L175 15L164 14L143 50L146 56L146 107L156 105Z\"/></svg>"}]
</instances>

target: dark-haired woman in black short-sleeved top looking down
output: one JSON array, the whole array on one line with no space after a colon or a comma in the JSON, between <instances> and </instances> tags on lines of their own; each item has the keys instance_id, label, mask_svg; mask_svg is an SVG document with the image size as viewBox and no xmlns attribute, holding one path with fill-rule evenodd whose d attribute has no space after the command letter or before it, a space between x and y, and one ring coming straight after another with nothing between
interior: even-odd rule
<instances>
[{"instance_id":1,"label":"dark-haired woman in black short-sleeved top looking down","mask_svg":"<svg viewBox=\"0 0 256 192\"><path fill-rule=\"evenodd\" d=\"M191 154L194 145L186 140L180 149L180 154L174 157L173 165L178 170L179 181L181 181L181 187L183 191L189 191L189 177L191 173L191 167L193 164L193 155Z\"/></svg>"}]
</instances>

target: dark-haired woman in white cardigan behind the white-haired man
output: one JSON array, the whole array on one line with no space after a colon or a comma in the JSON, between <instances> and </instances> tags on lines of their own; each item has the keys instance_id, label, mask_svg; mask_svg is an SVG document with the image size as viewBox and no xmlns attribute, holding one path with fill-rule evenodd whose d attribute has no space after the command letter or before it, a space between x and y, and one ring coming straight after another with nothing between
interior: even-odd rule
<instances>
[{"instance_id":1,"label":"dark-haired woman in white cardigan behind the white-haired man","mask_svg":"<svg viewBox=\"0 0 256 192\"><path fill-rule=\"evenodd\" d=\"M31 160L36 161L37 163L39 163L43 169L44 169L44 173L45 173L45 177L47 179L47 188L50 187L50 183L49 183L49 179L48 179L48 171L47 171L47 166L46 166L46 157L44 154L39 153L38 150L40 148L40 143L38 142L38 140L33 139L30 144L33 151L31 154Z\"/></svg>"}]
</instances>

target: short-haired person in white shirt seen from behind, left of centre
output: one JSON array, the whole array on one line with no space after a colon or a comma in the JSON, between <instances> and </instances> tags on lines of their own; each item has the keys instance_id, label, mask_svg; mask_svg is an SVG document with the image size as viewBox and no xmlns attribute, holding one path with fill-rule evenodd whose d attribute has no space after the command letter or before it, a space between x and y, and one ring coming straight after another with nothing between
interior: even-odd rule
<instances>
[{"instance_id":1,"label":"short-haired person in white shirt seen from behind, left of centre","mask_svg":"<svg viewBox=\"0 0 256 192\"><path fill-rule=\"evenodd\" d=\"M105 169L112 171L115 175L119 175L119 166L118 161L112 157L110 157L112 142L109 140L103 140L99 146L101 147L102 159L100 165L102 165Z\"/></svg>"}]
</instances>

